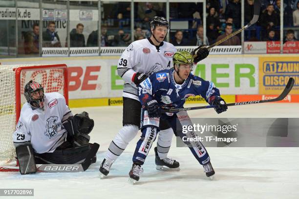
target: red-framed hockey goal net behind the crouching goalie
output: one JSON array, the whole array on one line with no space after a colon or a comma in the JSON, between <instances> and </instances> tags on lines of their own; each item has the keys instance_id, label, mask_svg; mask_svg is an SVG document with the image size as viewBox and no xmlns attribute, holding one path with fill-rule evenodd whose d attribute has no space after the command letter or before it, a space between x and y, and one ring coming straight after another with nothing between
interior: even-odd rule
<instances>
[{"instance_id":1,"label":"red-framed hockey goal net behind the crouching goalie","mask_svg":"<svg viewBox=\"0 0 299 199\"><path fill-rule=\"evenodd\" d=\"M0 65L0 160L15 157L12 134L26 102L24 86L34 80L44 92L59 92L68 103L66 65Z\"/></svg>"}]
</instances>

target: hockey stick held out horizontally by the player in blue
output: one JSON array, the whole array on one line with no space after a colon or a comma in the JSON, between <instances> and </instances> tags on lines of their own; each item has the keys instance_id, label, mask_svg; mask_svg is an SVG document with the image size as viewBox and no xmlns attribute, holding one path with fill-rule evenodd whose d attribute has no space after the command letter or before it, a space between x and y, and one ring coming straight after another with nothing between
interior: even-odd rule
<instances>
[{"instance_id":1,"label":"hockey stick held out horizontally by the player in blue","mask_svg":"<svg viewBox=\"0 0 299 199\"><path fill-rule=\"evenodd\" d=\"M235 102L235 103L230 103L226 104L226 106L231 107L231 106L239 106L239 105L247 105L247 104L260 104L260 103L265 103L265 102L277 102L280 100L283 100L291 91L295 84L295 80L291 77L283 89L282 93L274 99L268 99L268 100L256 100L256 101L247 101L247 102ZM197 110L197 109L210 109L210 108L215 108L214 105L211 106L204 106L204 107L190 107L190 108L182 108L182 109L170 109L170 110L162 110L161 112L178 112L178 111L190 111L190 110Z\"/></svg>"}]
</instances>

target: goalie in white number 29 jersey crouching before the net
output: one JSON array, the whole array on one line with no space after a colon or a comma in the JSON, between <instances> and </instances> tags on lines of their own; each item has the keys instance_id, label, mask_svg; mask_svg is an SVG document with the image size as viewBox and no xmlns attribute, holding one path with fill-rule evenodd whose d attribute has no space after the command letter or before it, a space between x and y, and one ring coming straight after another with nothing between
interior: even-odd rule
<instances>
[{"instance_id":1,"label":"goalie in white number 29 jersey crouching before the net","mask_svg":"<svg viewBox=\"0 0 299 199\"><path fill-rule=\"evenodd\" d=\"M32 80L25 85L24 95L27 103L21 109L13 133L21 174L35 173L35 163L83 162L90 151L88 133L94 125L88 113L73 116L63 95L58 92L44 93L42 85ZM22 173L21 166L30 158L30 163L25 165L31 169ZM92 161L96 161L96 156Z\"/></svg>"}]
</instances>

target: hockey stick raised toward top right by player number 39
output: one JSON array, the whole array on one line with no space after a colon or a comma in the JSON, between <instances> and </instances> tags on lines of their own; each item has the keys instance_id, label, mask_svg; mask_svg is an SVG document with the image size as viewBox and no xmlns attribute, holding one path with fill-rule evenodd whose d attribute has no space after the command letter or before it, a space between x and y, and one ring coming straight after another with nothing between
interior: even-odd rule
<instances>
[{"instance_id":1,"label":"hockey stick raised toward top right by player number 39","mask_svg":"<svg viewBox=\"0 0 299 199\"><path fill-rule=\"evenodd\" d=\"M255 2L254 2L254 16L253 16L252 20L247 25L245 25L245 26L241 27L240 29L236 30L235 32L229 34L228 36L226 36L222 40L219 40L218 42L210 45L209 47L207 47L207 49L210 50L214 46L223 43L224 41L226 41L226 40L234 37L235 35L239 34L243 30L245 30L246 28L248 28L251 25L255 24L257 22L257 20L258 20L258 17L259 17L259 10L260 10L260 2L259 2L259 0L255 0ZM197 56L197 54L194 54L193 58L195 58L196 56Z\"/></svg>"}]
</instances>

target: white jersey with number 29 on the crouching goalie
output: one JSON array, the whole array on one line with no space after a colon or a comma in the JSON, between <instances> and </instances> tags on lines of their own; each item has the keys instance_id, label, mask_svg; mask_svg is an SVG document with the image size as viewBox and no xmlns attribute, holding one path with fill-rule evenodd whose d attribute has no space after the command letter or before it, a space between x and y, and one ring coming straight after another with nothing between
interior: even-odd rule
<instances>
[{"instance_id":1,"label":"white jersey with number 29 on the crouching goalie","mask_svg":"<svg viewBox=\"0 0 299 199\"><path fill-rule=\"evenodd\" d=\"M71 113L63 95L58 92L44 95L43 110L33 110L28 103L23 105L13 133L15 145L29 141L38 154L51 153L66 140L62 121Z\"/></svg>"}]
</instances>

